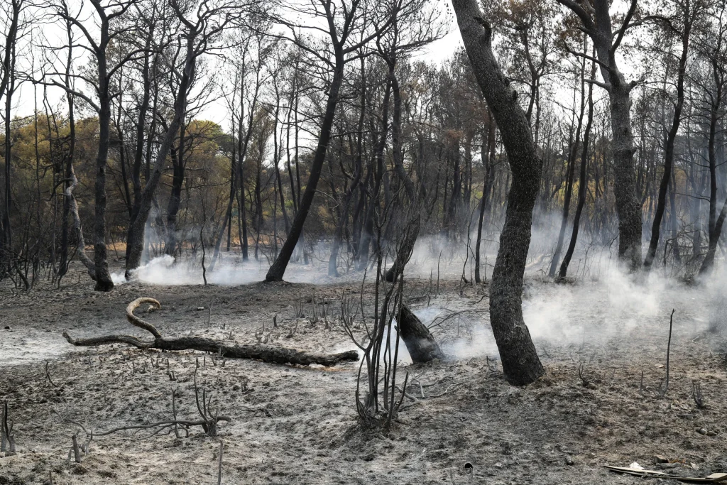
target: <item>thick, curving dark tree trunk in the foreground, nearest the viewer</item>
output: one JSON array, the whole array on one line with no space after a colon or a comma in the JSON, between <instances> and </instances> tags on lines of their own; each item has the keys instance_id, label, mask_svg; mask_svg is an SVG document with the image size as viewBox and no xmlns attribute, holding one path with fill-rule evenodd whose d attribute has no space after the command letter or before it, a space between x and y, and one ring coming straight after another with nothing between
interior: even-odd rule
<instances>
[{"instance_id":1,"label":"thick, curving dark tree trunk in the foreground, nearest the viewer","mask_svg":"<svg viewBox=\"0 0 727 485\"><path fill-rule=\"evenodd\" d=\"M453 0L473 72L502 136L513 183L490 288L490 322L508 382L525 385L545 373L523 320L523 274L542 172L528 119L492 52L492 29L475 0Z\"/></svg>"}]
</instances>

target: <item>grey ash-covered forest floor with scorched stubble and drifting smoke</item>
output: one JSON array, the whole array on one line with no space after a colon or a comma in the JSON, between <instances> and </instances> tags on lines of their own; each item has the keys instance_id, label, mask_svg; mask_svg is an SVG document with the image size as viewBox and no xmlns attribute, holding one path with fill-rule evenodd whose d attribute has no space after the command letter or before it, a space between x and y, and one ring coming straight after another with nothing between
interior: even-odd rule
<instances>
[{"instance_id":1,"label":"grey ash-covered forest floor with scorched stubble and drifting smoke","mask_svg":"<svg viewBox=\"0 0 727 485\"><path fill-rule=\"evenodd\" d=\"M162 307L140 309L140 316L165 336L256 343L264 324L272 345L349 350L355 346L340 324L340 301L362 288L372 300L373 286L362 286L360 276L293 278L319 281L315 286L170 286L170 279L166 286L122 284L109 294L73 276L60 290L39 285L13 295L4 288L0 398L9 403L17 454L0 457L0 484L49 483L49 473L55 484L216 484L220 440L224 484L632 484L643 479L603 465L662 470L652 465L655 454L672 462L662 465L669 473L727 471L725 286L682 284L658 272L635 281L606 270L553 284L531 270L523 308L547 374L516 388L497 360L489 286L463 284L461 262L440 262L438 281L436 270L416 268L406 279L406 300L450 358L412 366L403 356L417 401L404 399L390 430L358 426L358 363L324 368L229 359L222 366L204 353L74 348L61 336L145 337L124 316L126 305L144 296ZM326 321L311 321L314 288L317 301L329 302ZM305 317L295 318L301 308ZM670 382L661 397L672 308ZM80 425L102 433L169 419L173 390L178 415L196 418L196 369L214 409L231 418L220 423L217 438L198 426L179 438L121 431L96 436L80 465L68 463L71 436L87 441Z\"/></svg>"}]
</instances>

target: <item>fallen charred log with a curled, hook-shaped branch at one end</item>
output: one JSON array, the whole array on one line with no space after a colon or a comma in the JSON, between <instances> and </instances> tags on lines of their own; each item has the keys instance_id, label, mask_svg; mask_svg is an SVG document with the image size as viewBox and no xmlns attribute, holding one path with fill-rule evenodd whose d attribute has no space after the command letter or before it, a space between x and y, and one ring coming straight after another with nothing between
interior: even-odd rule
<instances>
[{"instance_id":1,"label":"fallen charred log with a curled, hook-shaped branch at one end","mask_svg":"<svg viewBox=\"0 0 727 485\"><path fill-rule=\"evenodd\" d=\"M307 366L319 364L330 367L342 361L358 361L358 352L349 350L342 353L321 354L295 350L293 348L275 347L273 345L228 345L225 342L209 339L206 337L162 337L155 326L148 321L134 315L142 303L150 303L156 308L161 304L153 298L137 298L126 307L126 319L130 324L145 329L153 335L154 340L142 340L132 335L102 335L100 337L89 337L74 339L68 332L63 332L63 337L71 345L80 347L95 347L97 345L108 345L113 343L125 343L136 348L156 348L158 350L202 350L216 353L225 358L254 358L263 362L274 362L276 364L299 364Z\"/></svg>"}]
</instances>

